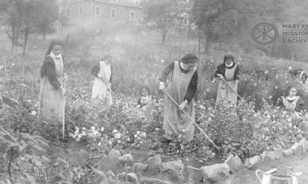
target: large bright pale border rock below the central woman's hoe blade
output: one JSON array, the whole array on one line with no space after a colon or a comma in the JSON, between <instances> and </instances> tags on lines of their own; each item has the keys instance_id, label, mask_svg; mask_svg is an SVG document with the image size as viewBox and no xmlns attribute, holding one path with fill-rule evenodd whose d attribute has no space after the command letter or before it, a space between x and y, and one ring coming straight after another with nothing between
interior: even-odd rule
<instances>
[{"instance_id":1,"label":"large bright pale border rock below the central woman's hoe blade","mask_svg":"<svg viewBox=\"0 0 308 184\"><path fill-rule=\"evenodd\" d=\"M207 181L217 183L230 176L230 167L225 163L204 166L200 169L202 170L202 178L204 183Z\"/></svg>"}]
</instances>

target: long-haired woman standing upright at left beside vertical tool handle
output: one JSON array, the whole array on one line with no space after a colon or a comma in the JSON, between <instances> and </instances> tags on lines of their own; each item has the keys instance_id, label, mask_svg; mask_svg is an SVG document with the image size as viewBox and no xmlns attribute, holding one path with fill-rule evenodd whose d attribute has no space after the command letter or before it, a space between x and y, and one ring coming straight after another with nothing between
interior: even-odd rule
<instances>
[{"instance_id":1,"label":"long-haired woman standing upright at left beside vertical tool handle","mask_svg":"<svg viewBox=\"0 0 308 184\"><path fill-rule=\"evenodd\" d=\"M52 40L41 66L41 87L38 102L39 117L50 119L52 116L57 116L59 121L64 115L65 88L63 84L67 79L61 51L61 40Z\"/></svg>"}]
</instances>

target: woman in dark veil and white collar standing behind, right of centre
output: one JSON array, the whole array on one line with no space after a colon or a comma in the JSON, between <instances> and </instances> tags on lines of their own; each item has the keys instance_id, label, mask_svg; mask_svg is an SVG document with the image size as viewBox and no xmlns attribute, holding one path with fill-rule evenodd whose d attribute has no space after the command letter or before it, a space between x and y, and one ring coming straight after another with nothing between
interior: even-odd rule
<instances>
[{"instance_id":1,"label":"woman in dark veil and white collar standing behind, right of centre","mask_svg":"<svg viewBox=\"0 0 308 184\"><path fill-rule=\"evenodd\" d=\"M218 84L216 105L219 103L237 105L237 84L239 84L239 66L231 54L223 57L223 64L218 66L215 77L221 79Z\"/></svg>"}]
</instances>

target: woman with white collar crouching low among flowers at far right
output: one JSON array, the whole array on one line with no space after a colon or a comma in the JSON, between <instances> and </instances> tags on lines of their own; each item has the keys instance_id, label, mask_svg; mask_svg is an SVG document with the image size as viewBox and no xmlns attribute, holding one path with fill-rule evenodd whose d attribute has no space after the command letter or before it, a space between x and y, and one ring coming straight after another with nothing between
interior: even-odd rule
<instances>
[{"instance_id":1,"label":"woman with white collar crouching low among flowers at far right","mask_svg":"<svg viewBox=\"0 0 308 184\"><path fill-rule=\"evenodd\" d=\"M289 112L289 118L295 120L300 117L300 112L304 109L304 101L297 95L297 89L289 86L287 89L288 96L281 96L279 105Z\"/></svg>"}]
</instances>

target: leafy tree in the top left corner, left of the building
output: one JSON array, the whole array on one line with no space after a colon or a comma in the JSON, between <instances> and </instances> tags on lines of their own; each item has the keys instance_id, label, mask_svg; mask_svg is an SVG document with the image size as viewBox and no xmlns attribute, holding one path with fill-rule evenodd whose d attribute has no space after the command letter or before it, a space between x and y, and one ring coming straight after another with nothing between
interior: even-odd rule
<instances>
[{"instance_id":1,"label":"leafy tree in the top left corner, left of the building","mask_svg":"<svg viewBox=\"0 0 308 184\"><path fill-rule=\"evenodd\" d=\"M23 52L31 33L52 32L52 24L57 20L57 5L54 0L1 0L0 11L5 33L12 42L11 52L23 36Z\"/></svg>"}]
</instances>

